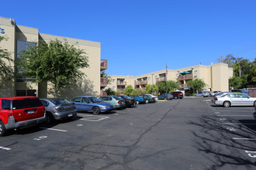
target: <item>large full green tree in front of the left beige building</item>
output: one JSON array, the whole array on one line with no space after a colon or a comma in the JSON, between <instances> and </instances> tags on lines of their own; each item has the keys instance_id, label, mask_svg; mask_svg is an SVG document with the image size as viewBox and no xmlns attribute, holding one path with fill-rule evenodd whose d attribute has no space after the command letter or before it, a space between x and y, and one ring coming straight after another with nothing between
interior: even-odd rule
<instances>
[{"instance_id":1,"label":"large full green tree in front of the left beige building","mask_svg":"<svg viewBox=\"0 0 256 170\"><path fill-rule=\"evenodd\" d=\"M88 56L85 55L82 49L76 49L67 40L40 41L36 46L30 46L29 50L22 50L17 66L25 76L38 82L47 80L53 83L57 97L61 88L85 76L80 70L89 66Z\"/></svg>"}]
</instances>

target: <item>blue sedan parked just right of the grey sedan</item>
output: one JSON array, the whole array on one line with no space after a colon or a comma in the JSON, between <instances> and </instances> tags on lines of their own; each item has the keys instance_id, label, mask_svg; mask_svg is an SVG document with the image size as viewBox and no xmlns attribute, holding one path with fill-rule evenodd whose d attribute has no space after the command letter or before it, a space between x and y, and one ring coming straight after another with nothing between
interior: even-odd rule
<instances>
[{"instance_id":1,"label":"blue sedan parked just right of the grey sedan","mask_svg":"<svg viewBox=\"0 0 256 170\"><path fill-rule=\"evenodd\" d=\"M77 110L88 111L93 114L105 113L114 109L112 104L108 104L92 96L74 97L70 101L75 104Z\"/></svg>"}]
</instances>

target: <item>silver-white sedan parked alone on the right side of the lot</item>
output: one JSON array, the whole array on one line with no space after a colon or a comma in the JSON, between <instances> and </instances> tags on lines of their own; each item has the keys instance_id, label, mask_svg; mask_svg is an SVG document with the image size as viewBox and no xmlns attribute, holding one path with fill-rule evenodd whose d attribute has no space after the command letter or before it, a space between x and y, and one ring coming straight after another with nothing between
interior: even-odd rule
<instances>
[{"instance_id":1,"label":"silver-white sedan parked alone on the right side of the lot","mask_svg":"<svg viewBox=\"0 0 256 170\"><path fill-rule=\"evenodd\" d=\"M230 106L256 106L256 97L250 97L245 93L227 93L223 97L216 97L213 100L216 105L223 107Z\"/></svg>"}]
</instances>

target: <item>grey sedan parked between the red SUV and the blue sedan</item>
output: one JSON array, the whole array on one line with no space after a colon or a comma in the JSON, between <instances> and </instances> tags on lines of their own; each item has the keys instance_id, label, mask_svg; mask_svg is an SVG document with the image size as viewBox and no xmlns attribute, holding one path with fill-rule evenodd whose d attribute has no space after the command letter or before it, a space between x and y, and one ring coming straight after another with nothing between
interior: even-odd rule
<instances>
[{"instance_id":1,"label":"grey sedan parked between the red SUV and the blue sedan","mask_svg":"<svg viewBox=\"0 0 256 170\"><path fill-rule=\"evenodd\" d=\"M74 103L61 98L40 99L46 108L45 120L47 124L52 124L64 118L71 118L77 115Z\"/></svg>"}]
</instances>

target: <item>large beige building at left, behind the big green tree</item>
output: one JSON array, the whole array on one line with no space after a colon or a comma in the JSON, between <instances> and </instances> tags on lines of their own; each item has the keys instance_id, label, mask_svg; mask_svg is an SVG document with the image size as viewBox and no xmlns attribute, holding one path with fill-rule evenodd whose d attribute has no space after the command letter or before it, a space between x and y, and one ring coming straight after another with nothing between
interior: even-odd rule
<instances>
[{"instance_id":1,"label":"large beige building at left, behind the big green tree","mask_svg":"<svg viewBox=\"0 0 256 170\"><path fill-rule=\"evenodd\" d=\"M28 49L29 46L35 45L35 42L58 39L64 42L66 39L69 44L74 44L78 49L84 49L88 56L88 68L81 71L86 74L84 78L73 84L71 88L61 90L61 97L70 99L78 95L99 96L101 87L104 87L100 77L100 71L107 69L107 60L101 59L101 43L84 39L73 39L63 36L54 36L40 33L39 29L28 26L19 26L14 19L0 17L0 36L7 38L7 41L0 42L2 49L7 49L12 53L12 59L19 57L19 51ZM15 68L14 64L12 64ZM1 80L1 77L0 77ZM54 97L54 88L49 82L37 83L28 77L15 77L8 82L0 83L0 95L2 97L10 96L37 96L37 97Z\"/></svg>"}]
</instances>

